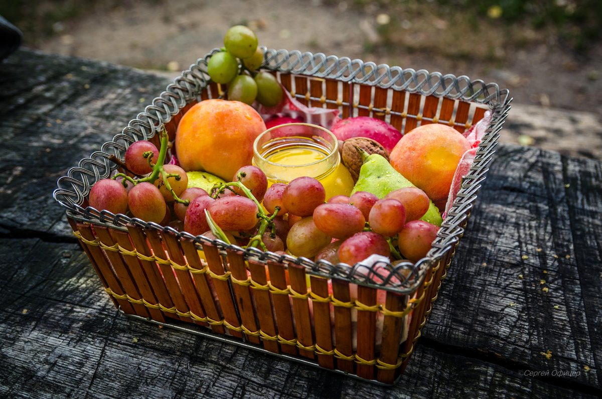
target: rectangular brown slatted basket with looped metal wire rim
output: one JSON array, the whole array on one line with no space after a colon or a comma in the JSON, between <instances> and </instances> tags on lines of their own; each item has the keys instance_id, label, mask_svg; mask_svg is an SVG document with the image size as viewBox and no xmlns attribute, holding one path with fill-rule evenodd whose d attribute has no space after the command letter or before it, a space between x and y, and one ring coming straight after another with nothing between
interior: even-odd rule
<instances>
[{"instance_id":1,"label":"rectangular brown slatted basket with looped metal wire rim","mask_svg":"<svg viewBox=\"0 0 602 399\"><path fill-rule=\"evenodd\" d=\"M228 341L384 385L405 369L485 179L509 92L465 76L346 57L264 49L262 69L297 101L373 116L408 132L487 121L474 162L418 262L344 265L241 248L88 206L92 185L137 140L175 135L196 102L223 93L207 74L214 49L176 78L100 151L58 179L53 196L114 305L133 318ZM486 118L486 119L483 119ZM205 259L199 257L203 251Z\"/></svg>"}]
</instances>

